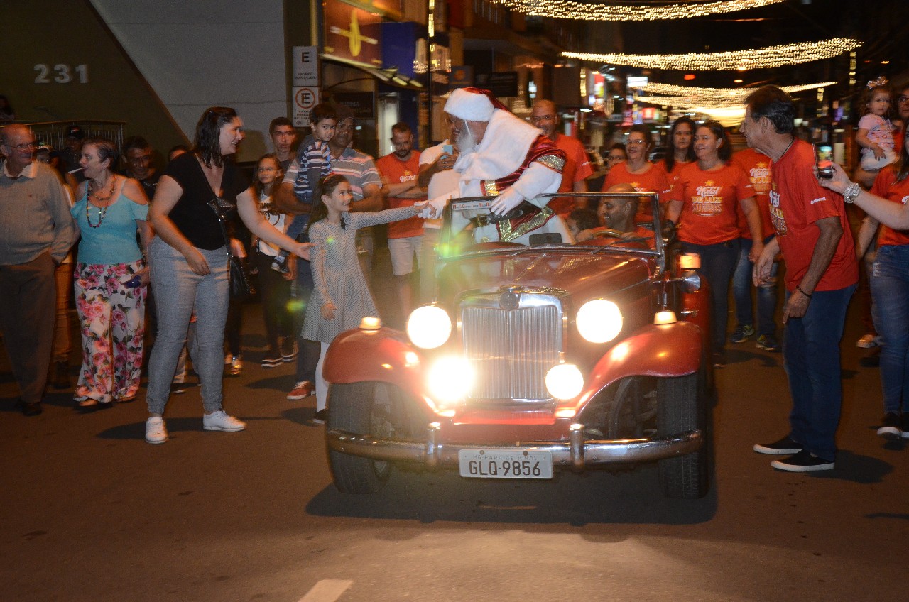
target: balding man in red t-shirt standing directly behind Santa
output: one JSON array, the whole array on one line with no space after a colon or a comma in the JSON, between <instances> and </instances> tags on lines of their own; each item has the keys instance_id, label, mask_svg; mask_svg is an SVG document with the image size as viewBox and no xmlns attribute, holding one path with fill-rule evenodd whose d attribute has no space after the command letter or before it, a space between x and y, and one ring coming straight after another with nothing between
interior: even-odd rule
<instances>
[{"instance_id":1,"label":"balding man in red t-shirt standing directly behind Santa","mask_svg":"<svg viewBox=\"0 0 909 602\"><path fill-rule=\"evenodd\" d=\"M587 192L587 178L594 175L587 158L584 145L577 138L555 131L559 125L559 115L551 100L537 100L530 113L530 123L538 127L543 134L552 140L565 154L565 165L562 168L562 185L559 192ZM575 207L587 206L586 196L559 196L549 201L549 208L556 215L567 219Z\"/></svg>"}]
</instances>

